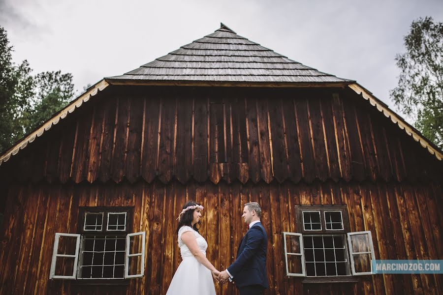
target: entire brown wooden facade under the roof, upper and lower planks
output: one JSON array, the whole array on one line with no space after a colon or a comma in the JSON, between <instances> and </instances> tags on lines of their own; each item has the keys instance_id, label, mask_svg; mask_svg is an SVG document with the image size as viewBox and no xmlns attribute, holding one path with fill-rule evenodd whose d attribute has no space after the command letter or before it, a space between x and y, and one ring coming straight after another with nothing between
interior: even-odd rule
<instances>
[{"instance_id":1,"label":"entire brown wooden facade under the roof, upper and lower planks","mask_svg":"<svg viewBox=\"0 0 443 295\"><path fill-rule=\"evenodd\" d=\"M181 258L176 218L202 204L208 258L224 269L258 201L268 294L438 293L441 276L374 275L357 284L285 277L282 232L295 205L347 205L378 259L443 259L443 164L346 89L108 87L0 166L0 294L164 294ZM145 276L128 286L49 280L54 234L79 207L131 206L145 231ZM218 294L235 294L216 285Z\"/></svg>"}]
</instances>

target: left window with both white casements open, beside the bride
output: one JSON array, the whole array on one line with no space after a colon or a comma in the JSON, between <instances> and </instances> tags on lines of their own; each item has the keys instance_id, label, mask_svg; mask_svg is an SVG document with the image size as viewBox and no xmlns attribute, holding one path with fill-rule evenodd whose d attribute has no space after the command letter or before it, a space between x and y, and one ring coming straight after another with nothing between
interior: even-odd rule
<instances>
[{"instance_id":1,"label":"left window with both white casements open, beside the bride","mask_svg":"<svg viewBox=\"0 0 443 295\"><path fill-rule=\"evenodd\" d=\"M128 233L129 207L82 207L79 233L57 233L51 279L126 279L143 276L145 232Z\"/></svg>"}]
</instances>

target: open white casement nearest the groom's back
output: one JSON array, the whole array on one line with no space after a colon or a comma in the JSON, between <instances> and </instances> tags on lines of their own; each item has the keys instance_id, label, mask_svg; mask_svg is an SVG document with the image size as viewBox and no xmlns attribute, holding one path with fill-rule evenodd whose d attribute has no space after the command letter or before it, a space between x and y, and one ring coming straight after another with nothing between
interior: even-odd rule
<instances>
[{"instance_id":1,"label":"open white casement nearest the groom's back","mask_svg":"<svg viewBox=\"0 0 443 295\"><path fill-rule=\"evenodd\" d=\"M284 232L283 240L285 243L286 275L306 276L302 234Z\"/></svg>"}]
</instances>

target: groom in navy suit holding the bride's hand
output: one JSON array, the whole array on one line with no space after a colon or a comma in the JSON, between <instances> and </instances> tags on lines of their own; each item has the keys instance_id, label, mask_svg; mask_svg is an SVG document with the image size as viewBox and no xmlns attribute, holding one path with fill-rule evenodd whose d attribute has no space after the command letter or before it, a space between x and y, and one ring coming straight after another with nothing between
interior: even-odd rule
<instances>
[{"instance_id":1,"label":"groom in navy suit holding the bride's hand","mask_svg":"<svg viewBox=\"0 0 443 295\"><path fill-rule=\"evenodd\" d=\"M260 295L268 288L266 249L268 236L260 222L261 208L256 202L247 203L242 217L249 224L237 250L237 259L219 275L219 280L234 281L240 295Z\"/></svg>"}]
</instances>

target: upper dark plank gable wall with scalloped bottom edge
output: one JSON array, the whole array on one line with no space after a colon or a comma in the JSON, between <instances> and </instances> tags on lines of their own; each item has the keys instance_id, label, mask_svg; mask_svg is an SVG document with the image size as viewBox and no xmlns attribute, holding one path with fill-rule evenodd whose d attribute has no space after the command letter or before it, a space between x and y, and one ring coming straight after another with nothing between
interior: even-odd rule
<instances>
[{"instance_id":1,"label":"upper dark plank gable wall with scalloped bottom edge","mask_svg":"<svg viewBox=\"0 0 443 295\"><path fill-rule=\"evenodd\" d=\"M442 181L443 163L352 90L106 90L2 169L63 183Z\"/></svg>"}]
</instances>

